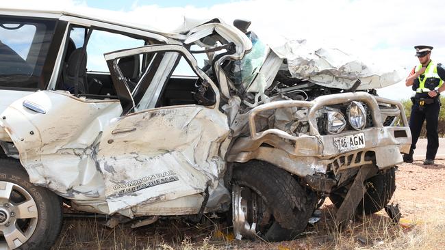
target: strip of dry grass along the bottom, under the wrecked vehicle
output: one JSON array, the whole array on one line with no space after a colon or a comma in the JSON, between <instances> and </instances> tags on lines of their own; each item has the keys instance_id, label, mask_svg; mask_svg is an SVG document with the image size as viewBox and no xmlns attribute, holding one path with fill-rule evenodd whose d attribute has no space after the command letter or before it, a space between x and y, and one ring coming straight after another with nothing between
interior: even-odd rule
<instances>
[{"instance_id":1,"label":"strip of dry grass along the bottom, under the wrecked vehicle","mask_svg":"<svg viewBox=\"0 0 445 250\"><path fill-rule=\"evenodd\" d=\"M334 227L332 205L322 207L322 219L307 227L304 236L286 242L233 240L223 221L161 220L131 230L129 225L109 229L99 219L66 220L53 249L445 249L442 211L429 210L429 220L392 223L384 211L356 217L343 230Z\"/></svg>"}]
</instances>

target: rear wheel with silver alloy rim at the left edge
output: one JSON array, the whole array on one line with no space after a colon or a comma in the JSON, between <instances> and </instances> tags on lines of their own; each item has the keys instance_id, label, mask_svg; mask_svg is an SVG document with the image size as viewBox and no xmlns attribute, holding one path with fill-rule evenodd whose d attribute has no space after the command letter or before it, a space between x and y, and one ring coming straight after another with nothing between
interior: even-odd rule
<instances>
[{"instance_id":1,"label":"rear wheel with silver alloy rim at the left edge","mask_svg":"<svg viewBox=\"0 0 445 250\"><path fill-rule=\"evenodd\" d=\"M62 228L62 204L29 182L13 159L0 159L0 249L50 249Z\"/></svg>"}]
</instances>

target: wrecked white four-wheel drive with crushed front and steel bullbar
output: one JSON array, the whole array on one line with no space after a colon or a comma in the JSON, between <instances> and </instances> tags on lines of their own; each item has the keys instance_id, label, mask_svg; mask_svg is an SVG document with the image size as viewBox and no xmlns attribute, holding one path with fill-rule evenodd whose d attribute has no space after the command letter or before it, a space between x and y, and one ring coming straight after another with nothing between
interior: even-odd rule
<instances>
[{"instance_id":1,"label":"wrecked white four-wheel drive with crushed front and steel bullbar","mask_svg":"<svg viewBox=\"0 0 445 250\"><path fill-rule=\"evenodd\" d=\"M132 227L231 211L236 238L266 240L303 232L325 197L339 222L381 210L411 142L401 103L375 95L388 77L235 24L3 10L0 248L50 247L62 202Z\"/></svg>"}]
</instances>

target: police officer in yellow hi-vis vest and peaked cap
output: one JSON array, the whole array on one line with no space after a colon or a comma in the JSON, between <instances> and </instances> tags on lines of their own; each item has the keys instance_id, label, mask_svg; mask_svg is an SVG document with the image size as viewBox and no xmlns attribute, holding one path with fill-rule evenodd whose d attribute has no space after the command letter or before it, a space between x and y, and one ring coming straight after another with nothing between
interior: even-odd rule
<instances>
[{"instance_id":1,"label":"police officer in yellow hi-vis vest and peaked cap","mask_svg":"<svg viewBox=\"0 0 445 250\"><path fill-rule=\"evenodd\" d=\"M412 85L416 95L411 98L413 106L411 107L411 118L409 119L409 128L411 128L412 143L409 154L403 155L405 163L413 162L413 154L416 149L416 143L422 130L424 120L427 120L427 156L424 165L434 164L435 154L439 148L439 135L437 135L437 124L439 122L440 111L440 92L445 90L442 83L445 80L445 69L442 64L435 64L431 61L432 46L418 45L416 48L416 57L419 59L419 65L411 70L405 84Z\"/></svg>"}]
</instances>

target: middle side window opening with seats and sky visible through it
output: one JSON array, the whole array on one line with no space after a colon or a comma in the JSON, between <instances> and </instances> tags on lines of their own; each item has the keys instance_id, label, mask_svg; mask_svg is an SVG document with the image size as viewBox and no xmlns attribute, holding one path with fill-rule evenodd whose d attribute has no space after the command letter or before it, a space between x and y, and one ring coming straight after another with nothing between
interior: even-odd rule
<instances>
[{"instance_id":1,"label":"middle side window opening with seats and sky visible through it","mask_svg":"<svg viewBox=\"0 0 445 250\"><path fill-rule=\"evenodd\" d=\"M116 95L103 54L144 46L145 43L144 39L133 38L131 35L71 25L65 45L61 77L56 89L68 90L72 94L76 94L77 88L77 94ZM125 77L132 80L138 78L140 61L142 58L129 58L121 62L125 68Z\"/></svg>"}]
</instances>

